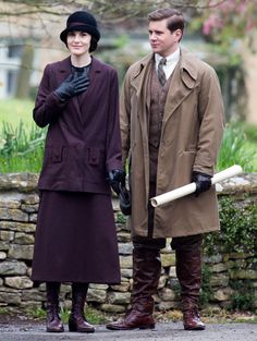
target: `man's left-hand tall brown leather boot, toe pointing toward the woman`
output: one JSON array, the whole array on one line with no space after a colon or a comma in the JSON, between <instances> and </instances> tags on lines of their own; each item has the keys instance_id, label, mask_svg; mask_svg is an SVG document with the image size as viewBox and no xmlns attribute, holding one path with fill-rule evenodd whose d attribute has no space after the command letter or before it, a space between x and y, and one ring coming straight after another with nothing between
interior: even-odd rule
<instances>
[{"instance_id":1,"label":"man's left-hand tall brown leather boot, toe pointing toward the woman","mask_svg":"<svg viewBox=\"0 0 257 341\"><path fill-rule=\"evenodd\" d=\"M124 318L110 322L111 330L154 329L154 299L160 278L160 252L150 248L133 249L132 308Z\"/></svg>"}]
</instances>

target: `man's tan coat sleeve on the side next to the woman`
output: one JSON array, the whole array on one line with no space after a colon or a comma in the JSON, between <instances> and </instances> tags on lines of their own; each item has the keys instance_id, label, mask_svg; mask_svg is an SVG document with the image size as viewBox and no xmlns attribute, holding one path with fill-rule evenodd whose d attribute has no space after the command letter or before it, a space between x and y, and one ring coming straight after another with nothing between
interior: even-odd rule
<instances>
[{"instance_id":1,"label":"man's tan coat sleeve on the side next to the woman","mask_svg":"<svg viewBox=\"0 0 257 341\"><path fill-rule=\"evenodd\" d=\"M121 138L122 138L122 165L125 169L126 159L131 148L131 101L130 101L130 76L126 73L122 86L120 99L120 121L121 121Z\"/></svg>"}]
</instances>

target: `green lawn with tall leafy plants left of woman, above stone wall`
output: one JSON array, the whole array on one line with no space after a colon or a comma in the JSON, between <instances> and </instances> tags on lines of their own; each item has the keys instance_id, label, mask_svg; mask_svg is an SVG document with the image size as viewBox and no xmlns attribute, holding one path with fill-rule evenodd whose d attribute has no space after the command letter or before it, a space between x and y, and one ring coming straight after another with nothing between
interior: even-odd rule
<instances>
[{"instance_id":1,"label":"green lawn with tall leafy plants left of woman, above stone wall","mask_svg":"<svg viewBox=\"0 0 257 341\"><path fill-rule=\"evenodd\" d=\"M45 130L33 120L34 101L0 100L0 172L39 172ZM4 124L5 123L5 124Z\"/></svg>"}]
</instances>

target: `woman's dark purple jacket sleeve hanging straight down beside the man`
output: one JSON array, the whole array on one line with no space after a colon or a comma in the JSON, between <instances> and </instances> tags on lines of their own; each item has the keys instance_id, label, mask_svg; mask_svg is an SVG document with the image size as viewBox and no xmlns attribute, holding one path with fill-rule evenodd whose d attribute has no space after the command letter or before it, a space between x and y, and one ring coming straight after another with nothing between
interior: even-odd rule
<instances>
[{"instance_id":1,"label":"woman's dark purple jacket sleeve hanging straight down beside the man","mask_svg":"<svg viewBox=\"0 0 257 341\"><path fill-rule=\"evenodd\" d=\"M107 131L107 170L122 169L121 131L119 121L119 83L117 71L112 70L110 81L110 105Z\"/></svg>"}]
</instances>

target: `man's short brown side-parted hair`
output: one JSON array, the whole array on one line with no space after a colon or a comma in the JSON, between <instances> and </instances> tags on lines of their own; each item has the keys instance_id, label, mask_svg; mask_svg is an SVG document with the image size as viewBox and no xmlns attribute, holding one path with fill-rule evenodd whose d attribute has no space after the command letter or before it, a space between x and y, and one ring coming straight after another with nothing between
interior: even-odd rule
<instances>
[{"instance_id":1,"label":"man's short brown side-parted hair","mask_svg":"<svg viewBox=\"0 0 257 341\"><path fill-rule=\"evenodd\" d=\"M181 11L175 9L159 9L148 14L149 22L158 22L168 19L167 27L173 33L176 29L184 32L185 23Z\"/></svg>"}]
</instances>

